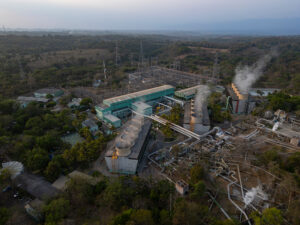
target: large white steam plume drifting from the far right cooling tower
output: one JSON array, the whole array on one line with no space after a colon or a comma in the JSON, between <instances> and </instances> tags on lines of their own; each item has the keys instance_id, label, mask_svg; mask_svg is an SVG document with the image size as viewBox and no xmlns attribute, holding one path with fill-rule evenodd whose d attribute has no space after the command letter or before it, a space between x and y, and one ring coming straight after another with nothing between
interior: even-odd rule
<instances>
[{"instance_id":1,"label":"large white steam plume drifting from the far right cooling tower","mask_svg":"<svg viewBox=\"0 0 300 225\"><path fill-rule=\"evenodd\" d=\"M248 93L252 85L261 77L263 69L277 56L276 50L272 50L269 54L261 57L252 66L238 66L235 69L234 83L241 93Z\"/></svg>"}]
</instances>

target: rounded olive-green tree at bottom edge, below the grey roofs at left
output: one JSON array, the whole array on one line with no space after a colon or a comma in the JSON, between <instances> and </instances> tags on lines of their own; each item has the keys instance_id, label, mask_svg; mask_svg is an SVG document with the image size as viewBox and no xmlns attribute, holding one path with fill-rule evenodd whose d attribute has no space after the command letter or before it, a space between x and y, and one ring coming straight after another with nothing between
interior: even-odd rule
<instances>
[{"instance_id":1,"label":"rounded olive-green tree at bottom edge, below the grey roofs at left","mask_svg":"<svg viewBox=\"0 0 300 225\"><path fill-rule=\"evenodd\" d=\"M52 200L43 209L45 213L45 224L56 224L66 217L70 210L70 203L64 198Z\"/></svg>"}]
</instances>

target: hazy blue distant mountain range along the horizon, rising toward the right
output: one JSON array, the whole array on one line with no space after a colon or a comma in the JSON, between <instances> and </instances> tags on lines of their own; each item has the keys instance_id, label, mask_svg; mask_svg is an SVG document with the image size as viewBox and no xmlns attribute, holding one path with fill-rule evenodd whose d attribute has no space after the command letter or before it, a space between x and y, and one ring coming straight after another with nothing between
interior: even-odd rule
<instances>
[{"instance_id":1,"label":"hazy blue distant mountain range along the horizon, rising toward the right","mask_svg":"<svg viewBox=\"0 0 300 225\"><path fill-rule=\"evenodd\" d=\"M251 19L231 22L213 22L213 23L186 23L170 26L162 26L155 30L89 30L89 29L12 29L0 28L3 32L58 32L61 34L164 34L179 36L198 36L198 35L300 35L300 18L285 19Z\"/></svg>"}]
</instances>

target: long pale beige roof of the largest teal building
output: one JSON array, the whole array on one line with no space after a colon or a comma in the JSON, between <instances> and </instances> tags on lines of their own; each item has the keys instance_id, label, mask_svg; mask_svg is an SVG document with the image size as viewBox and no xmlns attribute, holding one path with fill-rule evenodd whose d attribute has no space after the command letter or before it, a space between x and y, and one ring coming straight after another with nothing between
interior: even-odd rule
<instances>
[{"instance_id":1,"label":"long pale beige roof of the largest teal building","mask_svg":"<svg viewBox=\"0 0 300 225\"><path fill-rule=\"evenodd\" d=\"M107 105L110 105L110 104L113 104L116 102L121 102L121 101L128 100L128 99L142 97L142 96L149 95L149 94L152 94L155 92L165 91L165 90L168 90L171 88L174 88L174 87L171 85L163 85L163 86L150 88L150 89L143 90L143 91L138 91L138 92L134 92L134 93L126 94L126 95L121 95L118 97L108 98L108 99L103 100L103 102Z\"/></svg>"}]
</instances>

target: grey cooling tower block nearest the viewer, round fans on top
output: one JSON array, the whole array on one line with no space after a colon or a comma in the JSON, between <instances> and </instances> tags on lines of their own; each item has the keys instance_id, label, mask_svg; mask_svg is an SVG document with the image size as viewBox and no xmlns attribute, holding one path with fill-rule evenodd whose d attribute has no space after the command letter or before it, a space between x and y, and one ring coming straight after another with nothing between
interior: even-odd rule
<instances>
[{"instance_id":1,"label":"grey cooling tower block nearest the viewer, round fans on top","mask_svg":"<svg viewBox=\"0 0 300 225\"><path fill-rule=\"evenodd\" d=\"M142 116L135 116L123 126L105 154L105 162L110 172L122 174L137 172L150 129L151 121L145 120Z\"/></svg>"}]
</instances>

